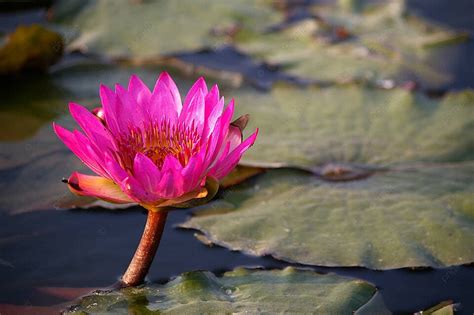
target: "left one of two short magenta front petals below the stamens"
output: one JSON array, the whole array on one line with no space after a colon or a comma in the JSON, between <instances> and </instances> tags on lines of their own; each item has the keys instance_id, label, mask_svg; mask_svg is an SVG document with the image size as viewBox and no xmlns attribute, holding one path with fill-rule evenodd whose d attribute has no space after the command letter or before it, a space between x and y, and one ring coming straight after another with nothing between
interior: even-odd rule
<instances>
[{"instance_id":1,"label":"left one of two short magenta front petals below the stamens","mask_svg":"<svg viewBox=\"0 0 474 315\"><path fill-rule=\"evenodd\" d=\"M133 162L133 176L143 188L151 193L156 193L161 178L158 167L146 155L137 153Z\"/></svg>"}]
</instances>

